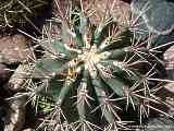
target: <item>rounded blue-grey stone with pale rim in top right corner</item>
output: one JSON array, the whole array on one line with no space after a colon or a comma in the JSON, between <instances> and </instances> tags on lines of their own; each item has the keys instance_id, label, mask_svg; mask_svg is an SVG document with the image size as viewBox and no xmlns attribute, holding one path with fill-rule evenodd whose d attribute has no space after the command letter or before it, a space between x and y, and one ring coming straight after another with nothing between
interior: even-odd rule
<instances>
[{"instance_id":1,"label":"rounded blue-grey stone with pale rim in top right corner","mask_svg":"<svg viewBox=\"0 0 174 131\"><path fill-rule=\"evenodd\" d=\"M133 0L133 14L141 14L150 33L167 35L174 29L174 3L166 0ZM139 26L139 29L142 29Z\"/></svg>"}]
</instances>

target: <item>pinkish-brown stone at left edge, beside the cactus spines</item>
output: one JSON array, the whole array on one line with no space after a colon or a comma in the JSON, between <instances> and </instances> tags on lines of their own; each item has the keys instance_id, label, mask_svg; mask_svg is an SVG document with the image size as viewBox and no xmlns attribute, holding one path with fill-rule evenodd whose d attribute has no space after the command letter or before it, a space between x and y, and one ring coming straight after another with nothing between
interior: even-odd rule
<instances>
[{"instance_id":1,"label":"pinkish-brown stone at left edge, beside the cactus spines","mask_svg":"<svg viewBox=\"0 0 174 131\"><path fill-rule=\"evenodd\" d=\"M27 46L24 35L4 36L0 38L0 52L2 62L24 62L33 60L34 52Z\"/></svg>"}]
</instances>

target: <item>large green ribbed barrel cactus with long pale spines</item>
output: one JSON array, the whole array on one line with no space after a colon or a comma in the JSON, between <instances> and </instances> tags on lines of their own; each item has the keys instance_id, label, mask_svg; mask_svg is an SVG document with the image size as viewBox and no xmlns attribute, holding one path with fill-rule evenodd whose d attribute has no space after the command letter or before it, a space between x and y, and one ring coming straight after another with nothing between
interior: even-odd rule
<instances>
[{"instance_id":1,"label":"large green ribbed barrel cactus with long pale spines","mask_svg":"<svg viewBox=\"0 0 174 131\"><path fill-rule=\"evenodd\" d=\"M151 37L136 39L134 27L117 25L109 11L98 25L83 8L69 13L54 22L61 26L57 38L45 28L47 37L39 40L45 55L33 72L41 79L35 92L53 99L41 126L50 131L116 131L134 124L134 118L123 117L129 110L140 123L150 110L167 116L153 106L164 105L156 93L163 66L158 52L165 45L150 46Z\"/></svg>"}]
</instances>

